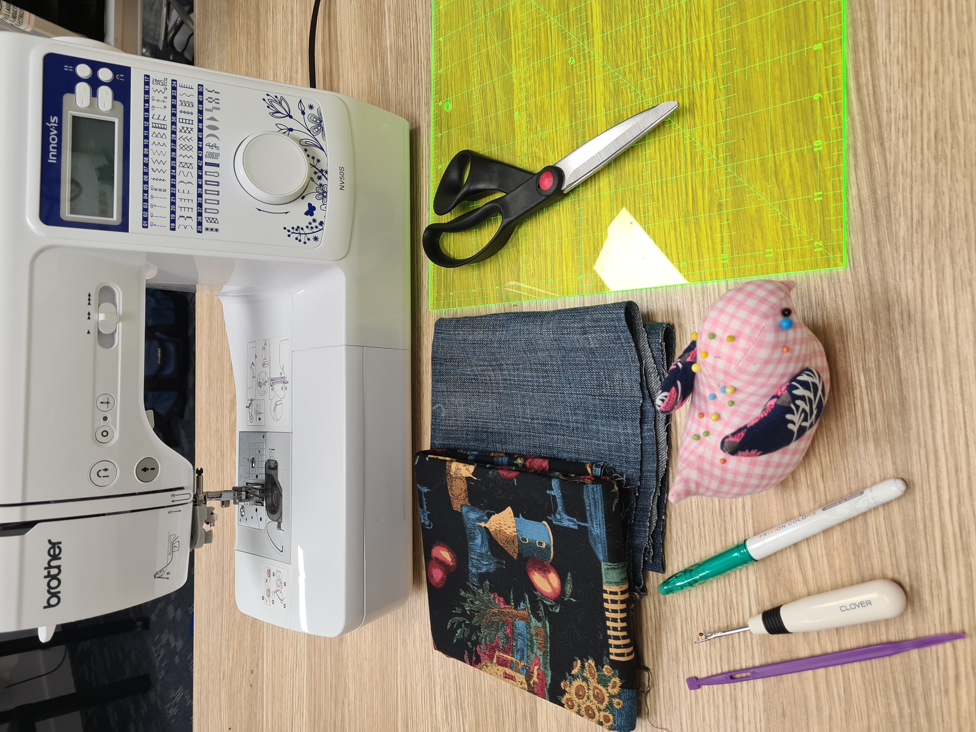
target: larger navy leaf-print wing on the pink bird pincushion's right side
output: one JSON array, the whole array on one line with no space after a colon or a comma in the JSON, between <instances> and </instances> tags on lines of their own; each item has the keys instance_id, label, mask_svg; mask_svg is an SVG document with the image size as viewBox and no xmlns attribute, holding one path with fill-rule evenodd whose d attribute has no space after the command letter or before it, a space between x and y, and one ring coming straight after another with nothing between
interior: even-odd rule
<instances>
[{"instance_id":1,"label":"larger navy leaf-print wing on the pink bird pincushion's right side","mask_svg":"<svg viewBox=\"0 0 976 732\"><path fill-rule=\"evenodd\" d=\"M823 377L803 369L769 397L757 417L722 437L722 452L753 458L782 450L817 424L825 401Z\"/></svg>"}]
</instances>

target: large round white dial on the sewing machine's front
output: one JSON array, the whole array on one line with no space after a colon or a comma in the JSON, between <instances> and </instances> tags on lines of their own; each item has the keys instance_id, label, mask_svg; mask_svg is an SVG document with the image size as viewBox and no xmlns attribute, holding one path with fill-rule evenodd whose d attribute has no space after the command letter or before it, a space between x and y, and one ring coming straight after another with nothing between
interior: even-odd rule
<instances>
[{"instance_id":1,"label":"large round white dial on the sewing machine's front","mask_svg":"<svg viewBox=\"0 0 976 732\"><path fill-rule=\"evenodd\" d=\"M237 147L234 174L251 196L280 206L302 195L308 185L308 161L298 142L281 133L259 132Z\"/></svg>"}]
</instances>

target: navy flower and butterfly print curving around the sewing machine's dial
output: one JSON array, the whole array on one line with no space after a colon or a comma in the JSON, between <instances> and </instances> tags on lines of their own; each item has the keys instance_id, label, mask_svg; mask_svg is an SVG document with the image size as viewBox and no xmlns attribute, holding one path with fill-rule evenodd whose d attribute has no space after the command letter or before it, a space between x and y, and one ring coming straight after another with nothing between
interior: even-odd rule
<instances>
[{"instance_id":1,"label":"navy flower and butterfly print curving around the sewing machine's dial","mask_svg":"<svg viewBox=\"0 0 976 732\"><path fill-rule=\"evenodd\" d=\"M318 217L312 218L307 224L282 226L282 229L289 239L294 238L301 244L309 242L317 244L321 241L322 231L325 229L325 209L329 198L329 162L323 144L325 127L322 123L322 110L316 107L315 102L306 103L305 100L300 99L298 103L300 119L292 114L292 105L285 97L268 94L262 101L273 119L289 120L275 123L278 132L286 136L291 136L293 133L303 136L299 144L305 151L308 167L311 169L308 185L314 187L309 190L306 186L300 200L305 200L307 196L314 194L315 200L319 201Z\"/></svg>"}]
</instances>

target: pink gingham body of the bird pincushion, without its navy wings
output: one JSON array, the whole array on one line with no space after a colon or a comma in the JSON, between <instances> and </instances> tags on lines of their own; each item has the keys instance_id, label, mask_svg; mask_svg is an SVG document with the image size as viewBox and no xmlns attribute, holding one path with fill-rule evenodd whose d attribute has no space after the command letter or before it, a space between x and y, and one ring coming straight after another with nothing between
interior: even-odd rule
<instances>
[{"instance_id":1,"label":"pink gingham body of the bird pincushion, without its navy wings","mask_svg":"<svg viewBox=\"0 0 976 732\"><path fill-rule=\"evenodd\" d=\"M790 474L810 446L816 424L792 444L766 455L726 455L719 447L722 437L745 427L770 396L805 368L820 373L830 395L824 346L800 321L791 290L793 282L748 282L725 293L706 313L698 331L696 362L701 370L689 400L691 411L681 436L671 502L689 496L738 498L772 488ZM785 307L793 311L789 330L780 326ZM734 340L728 341L728 336ZM789 352L783 351L784 346ZM723 393L722 386L734 386L735 391ZM709 394L715 398L709 399ZM728 406L730 400L733 406ZM712 421L712 414L718 415L717 421ZM719 463L722 459L724 464Z\"/></svg>"}]
</instances>

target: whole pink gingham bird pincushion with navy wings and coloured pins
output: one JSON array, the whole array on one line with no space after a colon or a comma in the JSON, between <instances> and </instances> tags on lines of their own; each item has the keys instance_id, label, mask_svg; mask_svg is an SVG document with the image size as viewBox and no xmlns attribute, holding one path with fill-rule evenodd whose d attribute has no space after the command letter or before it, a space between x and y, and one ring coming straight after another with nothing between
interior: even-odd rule
<instances>
[{"instance_id":1,"label":"whole pink gingham bird pincushion with navy wings and coloured pins","mask_svg":"<svg viewBox=\"0 0 976 732\"><path fill-rule=\"evenodd\" d=\"M793 282L756 280L728 291L671 364L657 408L671 414L691 397L671 502L772 488L810 446L831 377L792 290Z\"/></svg>"}]
</instances>

